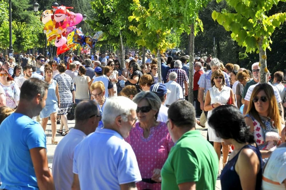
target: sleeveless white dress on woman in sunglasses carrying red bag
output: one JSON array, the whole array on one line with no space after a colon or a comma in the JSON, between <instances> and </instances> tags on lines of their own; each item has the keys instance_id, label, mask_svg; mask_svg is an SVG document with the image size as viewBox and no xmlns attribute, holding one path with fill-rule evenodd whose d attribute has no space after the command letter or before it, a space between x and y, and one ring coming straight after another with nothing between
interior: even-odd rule
<instances>
[{"instance_id":1,"label":"sleeveless white dress on woman in sunglasses carrying red bag","mask_svg":"<svg viewBox=\"0 0 286 190\"><path fill-rule=\"evenodd\" d=\"M219 89L215 86L209 89L210 92L210 104L215 104L217 102L221 102L222 104L227 104L229 98L230 98L230 93L231 93L231 88L223 85L223 89L219 91ZM215 110L210 110L208 111L208 118L212 115L212 111ZM222 116L223 117L223 116ZM223 142L220 137L218 137L215 133L215 130L211 128L208 123L206 123L208 126L208 137L209 140L212 142ZM227 124L225 127L229 127Z\"/></svg>"}]
</instances>

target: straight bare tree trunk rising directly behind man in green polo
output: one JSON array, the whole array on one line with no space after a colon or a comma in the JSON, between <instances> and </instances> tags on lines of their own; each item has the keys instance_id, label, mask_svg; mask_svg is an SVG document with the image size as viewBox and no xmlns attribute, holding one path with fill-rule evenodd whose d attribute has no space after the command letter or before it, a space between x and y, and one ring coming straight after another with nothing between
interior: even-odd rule
<instances>
[{"instance_id":1,"label":"straight bare tree trunk rising directly behind man in green polo","mask_svg":"<svg viewBox=\"0 0 286 190\"><path fill-rule=\"evenodd\" d=\"M194 102L194 24L191 25L191 33L190 33L190 46L189 46L189 56L190 56L190 68L189 68L189 87L188 87L188 97L189 97L189 102L193 104Z\"/></svg>"}]
</instances>

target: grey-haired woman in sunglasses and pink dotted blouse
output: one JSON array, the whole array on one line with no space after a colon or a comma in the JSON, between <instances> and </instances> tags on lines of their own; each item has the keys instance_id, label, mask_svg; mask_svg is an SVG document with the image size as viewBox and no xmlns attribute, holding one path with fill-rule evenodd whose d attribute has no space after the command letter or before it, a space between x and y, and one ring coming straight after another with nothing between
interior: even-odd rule
<instances>
[{"instance_id":1,"label":"grey-haired woman in sunglasses and pink dotted blouse","mask_svg":"<svg viewBox=\"0 0 286 190\"><path fill-rule=\"evenodd\" d=\"M161 168L174 145L166 123L158 122L161 106L159 97L150 91L142 91L133 101L137 104L139 122L125 139L134 150L142 181L136 183L140 189L161 189Z\"/></svg>"}]
</instances>

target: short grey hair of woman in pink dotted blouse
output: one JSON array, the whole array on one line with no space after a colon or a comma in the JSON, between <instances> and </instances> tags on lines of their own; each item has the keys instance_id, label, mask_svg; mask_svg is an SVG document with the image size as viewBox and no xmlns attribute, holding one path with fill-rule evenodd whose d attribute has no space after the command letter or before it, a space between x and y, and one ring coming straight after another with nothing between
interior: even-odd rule
<instances>
[{"instance_id":1,"label":"short grey hair of woman in pink dotted blouse","mask_svg":"<svg viewBox=\"0 0 286 190\"><path fill-rule=\"evenodd\" d=\"M154 92L141 91L140 93L136 94L136 96L134 96L134 98L132 100L133 100L133 102L138 104L139 102L141 102L141 100L144 100L144 99L148 102L149 106L151 106L152 110L157 111L157 113L155 115L155 120L157 120L159 110L160 110L160 107L162 104L159 96L157 96L157 94L155 94Z\"/></svg>"}]
</instances>

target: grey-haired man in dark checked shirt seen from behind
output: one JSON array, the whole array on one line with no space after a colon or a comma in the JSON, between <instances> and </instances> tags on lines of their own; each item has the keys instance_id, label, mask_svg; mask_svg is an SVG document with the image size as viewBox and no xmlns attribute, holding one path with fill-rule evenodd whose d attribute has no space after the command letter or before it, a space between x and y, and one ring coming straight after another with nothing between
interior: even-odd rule
<instances>
[{"instance_id":1,"label":"grey-haired man in dark checked shirt seen from behind","mask_svg":"<svg viewBox=\"0 0 286 190\"><path fill-rule=\"evenodd\" d=\"M169 82L169 74L171 72L175 72L177 74L177 83L182 87L184 96L188 96L188 75L186 71L182 70L182 62L180 60L176 60L174 63L174 69L170 69L167 73L166 79Z\"/></svg>"}]
</instances>

